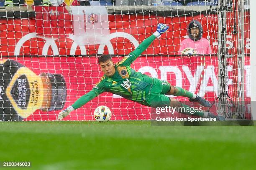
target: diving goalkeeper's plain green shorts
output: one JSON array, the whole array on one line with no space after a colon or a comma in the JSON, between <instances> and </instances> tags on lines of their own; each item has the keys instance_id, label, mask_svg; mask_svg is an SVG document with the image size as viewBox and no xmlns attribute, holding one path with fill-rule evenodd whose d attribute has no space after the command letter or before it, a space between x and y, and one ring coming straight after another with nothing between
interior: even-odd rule
<instances>
[{"instance_id":1,"label":"diving goalkeeper's plain green shorts","mask_svg":"<svg viewBox=\"0 0 256 170\"><path fill-rule=\"evenodd\" d=\"M154 78L153 85L148 96L146 97L146 103L144 105L154 108L169 106L171 100L164 94L169 92L170 89L171 85L169 82Z\"/></svg>"}]
</instances>

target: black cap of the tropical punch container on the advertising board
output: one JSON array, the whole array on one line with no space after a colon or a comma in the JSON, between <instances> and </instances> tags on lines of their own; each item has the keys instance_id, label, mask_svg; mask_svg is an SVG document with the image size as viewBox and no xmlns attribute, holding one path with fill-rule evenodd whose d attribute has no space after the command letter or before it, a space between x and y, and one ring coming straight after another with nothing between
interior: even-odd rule
<instances>
[{"instance_id":1,"label":"black cap of the tropical punch container on the advertising board","mask_svg":"<svg viewBox=\"0 0 256 170\"><path fill-rule=\"evenodd\" d=\"M51 105L48 111L61 110L67 100L67 87L64 77L60 74L46 73L51 82Z\"/></svg>"}]
</instances>

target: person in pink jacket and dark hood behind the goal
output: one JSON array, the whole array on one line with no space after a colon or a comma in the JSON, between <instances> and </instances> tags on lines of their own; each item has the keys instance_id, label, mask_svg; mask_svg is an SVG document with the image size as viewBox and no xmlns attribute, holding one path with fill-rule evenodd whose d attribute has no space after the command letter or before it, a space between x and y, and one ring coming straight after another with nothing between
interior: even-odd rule
<instances>
[{"instance_id":1,"label":"person in pink jacket and dark hood behind the goal","mask_svg":"<svg viewBox=\"0 0 256 170\"><path fill-rule=\"evenodd\" d=\"M202 32L201 23L196 20L191 21L187 29L189 38L182 40L178 54L183 54L182 51L186 48L193 48L195 54L212 54L210 43L206 38L202 37Z\"/></svg>"}]
</instances>

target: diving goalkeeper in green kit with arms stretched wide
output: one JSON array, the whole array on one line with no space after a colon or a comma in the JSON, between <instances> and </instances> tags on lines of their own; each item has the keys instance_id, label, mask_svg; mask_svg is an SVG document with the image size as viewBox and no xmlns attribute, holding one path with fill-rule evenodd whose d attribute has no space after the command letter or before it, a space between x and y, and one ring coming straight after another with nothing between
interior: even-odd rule
<instances>
[{"instance_id":1,"label":"diving goalkeeper in green kit with arms stretched wide","mask_svg":"<svg viewBox=\"0 0 256 170\"><path fill-rule=\"evenodd\" d=\"M104 76L101 77L90 92L80 97L73 105L67 107L67 109L59 112L58 120L62 120L69 115L75 109L82 107L93 98L100 95L102 92L111 92L116 95L120 95L128 100L138 102L142 105L149 107L189 107L179 102L176 99L167 97L166 95L184 96L188 97L190 101L199 102L205 107L210 107L210 103L181 87L174 87L169 82L159 80L157 78L149 77L141 72L136 72L131 68L131 63L141 55L141 53L147 49L147 47L156 39L167 31L169 26L159 23L157 25L156 32L150 37L146 38L141 44L123 58L120 62L113 63L112 59L108 55L102 55L98 58L98 63L101 70L104 72ZM182 113L186 115L192 115L186 110L182 109ZM197 111L193 115L200 117L212 117L220 120L219 116L215 116L210 112Z\"/></svg>"}]
</instances>

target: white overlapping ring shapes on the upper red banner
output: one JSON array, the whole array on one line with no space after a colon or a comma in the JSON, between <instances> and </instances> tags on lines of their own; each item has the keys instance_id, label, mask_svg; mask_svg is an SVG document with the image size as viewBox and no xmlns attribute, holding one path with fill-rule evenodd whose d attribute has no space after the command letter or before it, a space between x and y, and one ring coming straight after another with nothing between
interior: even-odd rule
<instances>
[{"instance_id":1,"label":"white overlapping ring shapes on the upper red banner","mask_svg":"<svg viewBox=\"0 0 256 170\"><path fill-rule=\"evenodd\" d=\"M107 46L108 47L108 53L109 54L114 54L113 45L111 44L110 40L113 39L113 38L117 38L117 37L123 37L123 38L126 38L126 39L130 40L135 48L138 47L138 45L139 45L138 41L132 35L130 35L128 33L125 33L125 32L113 32L112 34L105 37L106 41L104 43L100 44L97 53L98 54L103 54L104 47ZM48 50L49 50L50 47L53 51L53 55L59 55L59 48L61 48L61 47L58 47L56 45L57 38L49 38L49 37L39 36L35 32L29 33L29 34L23 36L22 38L20 38L20 40L18 40L18 42L15 46L15 49L14 49L14 55L20 55L21 47L23 47L23 45L26 41L28 41L32 38L41 38L41 39L45 40L45 44L44 44L44 47L43 47L42 54L38 54L38 55L48 55ZM81 55L86 55L85 46L84 45L77 45L77 42L74 41L74 39L75 39L74 35L69 34L69 36L67 38L73 40L73 42L70 41L70 43L72 43L72 46L70 48L70 55L75 55L76 54L76 50L77 50L78 46L81 50Z\"/></svg>"}]
</instances>

